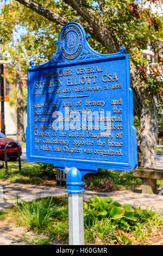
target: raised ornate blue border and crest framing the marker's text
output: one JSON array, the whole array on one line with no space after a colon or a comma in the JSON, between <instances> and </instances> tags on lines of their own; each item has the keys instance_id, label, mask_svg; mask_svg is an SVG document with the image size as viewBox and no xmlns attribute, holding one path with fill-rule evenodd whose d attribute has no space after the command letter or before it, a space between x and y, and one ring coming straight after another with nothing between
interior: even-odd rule
<instances>
[{"instance_id":1,"label":"raised ornate blue border and crest framing the marker's text","mask_svg":"<svg viewBox=\"0 0 163 256\"><path fill-rule=\"evenodd\" d=\"M69 56L65 56L62 52L62 44L63 39L68 33L71 33L71 27L76 27L81 32L82 36L82 45L81 48L76 56L73 56L78 50L79 47L75 48L76 45L73 45L75 48L75 51L72 53L72 56L74 58L71 58L71 54ZM70 34L71 35L71 34ZM78 35L77 35L78 36ZM80 36L80 35L79 35ZM105 169L117 169L117 170L133 170L137 166L137 143L136 143L136 129L134 127L133 123L133 92L130 88L130 60L129 60L129 54L123 54L125 51L125 47L120 47L120 52L114 53L114 54L100 54L95 52L89 45L87 39L90 37L90 35L86 34L83 27L80 26L76 22L70 22L65 25L59 35L59 40L55 40L55 44L58 45L57 51L54 54L54 57L49 60L49 62L34 66L33 62L30 62L30 65L32 68L28 69L28 98L27 98L27 113L28 113L28 126L26 129L26 135L27 135L27 158L29 161L33 162L47 162L47 163L53 163L55 167L76 167L79 170L90 170L96 172L97 168L105 168ZM62 42L62 43L61 43ZM73 42L74 43L74 42ZM67 42L68 44L68 42ZM42 157L42 156L34 156L32 155L32 125L31 125L31 116L30 116L30 84L32 84L32 80L30 78L30 75L32 72L35 72L36 70L43 70L46 68L51 67L58 67L58 66L69 66L69 65L80 65L82 63L96 63L99 60L102 61L109 61L111 59L125 59L126 62L126 84L127 84L127 127L128 127L128 163L123 162L104 162L104 161L87 161L87 160L79 160L79 159L66 159L59 157L55 157L52 159L52 157Z\"/></svg>"}]
</instances>

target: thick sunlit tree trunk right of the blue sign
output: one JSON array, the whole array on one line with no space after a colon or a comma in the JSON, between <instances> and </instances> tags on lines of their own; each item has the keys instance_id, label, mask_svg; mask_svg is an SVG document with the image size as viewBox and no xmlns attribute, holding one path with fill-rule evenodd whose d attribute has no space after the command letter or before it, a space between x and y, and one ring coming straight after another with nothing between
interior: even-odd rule
<instances>
[{"instance_id":1,"label":"thick sunlit tree trunk right of the blue sign","mask_svg":"<svg viewBox=\"0 0 163 256\"><path fill-rule=\"evenodd\" d=\"M136 81L136 70L131 65L131 81ZM158 115L154 97L145 86L140 86L139 78L133 87L134 111L140 121L140 132L137 136L138 166L156 168L156 143L158 138ZM147 102L147 103L146 103Z\"/></svg>"}]
</instances>

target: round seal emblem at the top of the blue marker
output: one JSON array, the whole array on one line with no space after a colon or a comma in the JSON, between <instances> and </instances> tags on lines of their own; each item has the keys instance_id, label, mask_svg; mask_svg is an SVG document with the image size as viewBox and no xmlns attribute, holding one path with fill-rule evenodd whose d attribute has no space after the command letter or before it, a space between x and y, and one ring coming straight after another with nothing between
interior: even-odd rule
<instances>
[{"instance_id":1,"label":"round seal emblem at the top of the blue marker","mask_svg":"<svg viewBox=\"0 0 163 256\"><path fill-rule=\"evenodd\" d=\"M66 59L76 58L82 50L83 35L76 25L68 26L60 36L60 51Z\"/></svg>"}]
</instances>

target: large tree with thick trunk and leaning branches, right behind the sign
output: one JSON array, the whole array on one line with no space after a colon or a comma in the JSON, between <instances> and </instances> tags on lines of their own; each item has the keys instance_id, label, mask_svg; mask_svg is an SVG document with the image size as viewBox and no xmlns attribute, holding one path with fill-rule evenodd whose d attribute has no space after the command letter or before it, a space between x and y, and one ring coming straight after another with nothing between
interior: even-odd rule
<instances>
[{"instance_id":1,"label":"large tree with thick trunk and leaning branches, right behind the sign","mask_svg":"<svg viewBox=\"0 0 163 256\"><path fill-rule=\"evenodd\" d=\"M77 21L91 34L91 45L99 52L115 53L121 45L126 47L131 57L134 111L140 120L137 145L139 165L155 168L158 119L154 96L161 102L162 84L158 65L162 60L158 54L158 63L154 67L143 57L141 49L146 50L150 44L155 52L159 51L162 27L160 16L152 13L150 5L142 7L133 0L16 1L24 5L22 16L28 12L32 14L30 23L35 22L38 29L41 23L47 22L52 28L53 22L63 26L68 21ZM159 4L161 1L145 2ZM39 22L40 17L44 18L38 23L36 17L39 17ZM29 26L27 20L25 23ZM59 26L56 29L58 31Z\"/></svg>"}]
</instances>

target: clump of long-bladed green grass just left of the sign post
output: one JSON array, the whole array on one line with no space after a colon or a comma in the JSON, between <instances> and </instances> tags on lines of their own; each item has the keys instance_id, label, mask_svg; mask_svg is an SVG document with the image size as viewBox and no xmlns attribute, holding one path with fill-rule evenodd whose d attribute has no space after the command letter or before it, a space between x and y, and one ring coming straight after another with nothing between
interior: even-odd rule
<instances>
[{"instance_id":1,"label":"clump of long-bladed green grass just left of the sign post","mask_svg":"<svg viewBox=\"0 0 163 256\"><path fill-rule=\"evenodd\" d=\"M68 239L68 202L63 197L48 197L15 204L17 222L28 230Z\"/></svg>"}]
</instances>

